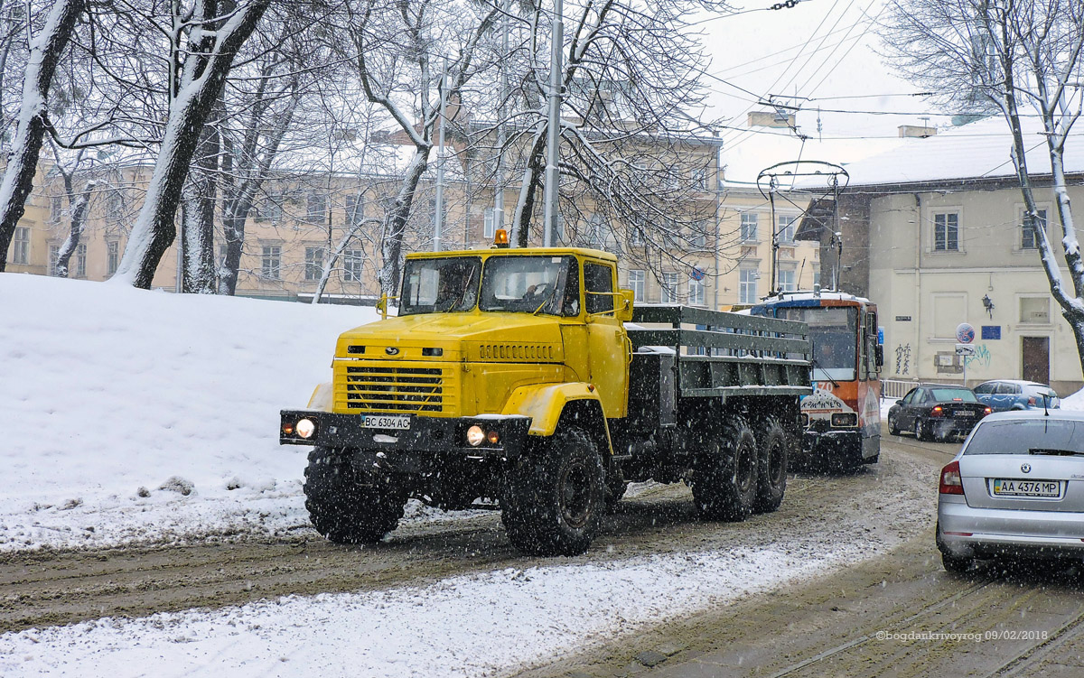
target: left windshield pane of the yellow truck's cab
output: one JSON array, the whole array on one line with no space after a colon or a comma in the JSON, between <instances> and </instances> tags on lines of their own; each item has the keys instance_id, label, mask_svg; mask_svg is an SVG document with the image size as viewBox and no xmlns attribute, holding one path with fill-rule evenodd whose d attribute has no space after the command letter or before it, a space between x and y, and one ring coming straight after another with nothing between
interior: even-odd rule
<instances>
[{"instance_id":1,"label":"left windshield pane of the yellow truck's cab","mask_svg":"<svg viewBox=\"0 0 1084 678\"><path fill-rule=\"evenodd\" d=\"M478 301L480 273L479 257L408 260L399 315L469 311Z\"/></svg>"}]
</instances>

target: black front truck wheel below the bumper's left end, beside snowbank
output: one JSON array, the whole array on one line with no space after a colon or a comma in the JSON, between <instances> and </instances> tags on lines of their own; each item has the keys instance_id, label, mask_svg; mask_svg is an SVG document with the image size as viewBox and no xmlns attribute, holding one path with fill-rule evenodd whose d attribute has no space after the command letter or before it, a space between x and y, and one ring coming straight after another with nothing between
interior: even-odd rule
<instances>
[{"instance_id":1,"label":"black front truck wheel below the bumper's left end, beside snowbank","mask_svg":"<svg viewBox=\"0 0 1084 678\"><path fill-rule=\"evenodd\" d=\"M305 508L317 532L336 544L375 544L403 517L405 494L390 479L373 482L318 447L305 469Z\"/></svg>"}]
</instances>

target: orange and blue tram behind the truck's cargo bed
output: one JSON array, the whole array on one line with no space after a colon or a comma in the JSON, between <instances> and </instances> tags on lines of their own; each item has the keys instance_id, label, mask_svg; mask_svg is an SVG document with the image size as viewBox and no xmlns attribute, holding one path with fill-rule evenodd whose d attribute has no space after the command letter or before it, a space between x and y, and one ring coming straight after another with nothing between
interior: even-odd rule
<instances>
[{"instance_id":1,"label":"orange and blue tram behind the truck's cargo bed","mask_svg":"<svg viewBox=\"0 0 1084 678\"><path fill-rule=\"evenodd\" d=\"M752 315L801 321L813 343L813 393L802 399L806 466L855 469L880 455L880 368L877 305L838 291L779 292Z\"/></svg>"}]
</instances>

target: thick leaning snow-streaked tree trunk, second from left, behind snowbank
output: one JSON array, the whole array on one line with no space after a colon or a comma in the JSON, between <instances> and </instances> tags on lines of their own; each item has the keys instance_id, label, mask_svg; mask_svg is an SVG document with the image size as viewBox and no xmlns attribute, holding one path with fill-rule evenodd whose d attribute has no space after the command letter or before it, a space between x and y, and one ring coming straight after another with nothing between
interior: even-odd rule
<instances>
[{"instance_id":1,"label":"thick leaning snow-streaked tree trunk, second from left, behind snowbank","mask_svg":"<svg viewBox=\"0 0 1084 678\"><path fill-rule=\"evenodd\" d=\"M194 50L185 58L177 94L170 102L169 121L147 184L146 198L112 281L144 289L151 287L163 255L177 236L173 220L204 122L222 89L234 55L251 35L269 3L270 0L251 0L237 8L229 21L214 31L215 42L208 53Z\"/></svg>"}]
</instances>

